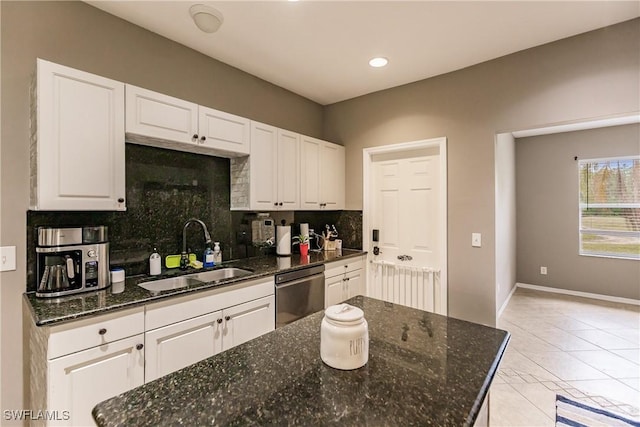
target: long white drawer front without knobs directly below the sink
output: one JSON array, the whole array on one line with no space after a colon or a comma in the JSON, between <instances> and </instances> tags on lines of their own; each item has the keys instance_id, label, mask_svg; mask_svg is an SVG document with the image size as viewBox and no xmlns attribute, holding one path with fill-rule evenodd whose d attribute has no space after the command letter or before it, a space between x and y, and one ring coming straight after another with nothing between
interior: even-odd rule
<instances>
[{"instance_id":1,"label":"long white drawer front without knobs directly below the sink","mask_svg":"<svg viewBox=\"0 0 640 427\"><path fill-rule=\"evenodd\" d=\"M182 298L150 304L146 307L145 325L150 331L203 314L212 313L232 305L242 304L273 295L273 276L221 286L207 292L197 292Z\"/></svg>"}]
</instances>

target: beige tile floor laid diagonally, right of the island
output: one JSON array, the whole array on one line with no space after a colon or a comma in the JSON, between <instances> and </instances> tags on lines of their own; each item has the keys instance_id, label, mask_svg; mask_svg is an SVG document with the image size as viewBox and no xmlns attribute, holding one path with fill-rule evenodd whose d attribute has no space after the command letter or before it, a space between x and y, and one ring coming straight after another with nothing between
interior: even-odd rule
<instances>
[{"instance_id":1,"label":"beige tile floor laid diagonally, right of the island","mask_svg":"<svg viewBox=\"0 0 640 427\"><path fill-rule=\"evenodd\" d=\"M553 426L556 393L640 420L640 307L518 288L491 426Z\"/></svg>"}]
</instances>

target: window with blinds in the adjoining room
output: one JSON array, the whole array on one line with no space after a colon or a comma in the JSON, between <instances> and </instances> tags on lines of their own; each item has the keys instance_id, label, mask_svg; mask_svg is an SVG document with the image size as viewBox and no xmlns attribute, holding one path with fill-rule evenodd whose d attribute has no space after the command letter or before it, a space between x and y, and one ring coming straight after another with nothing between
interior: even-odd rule
<instances>
[{"instance_id":1,"label":"window with blinds in the adjoining room","mask_svg":"<svg viewBox=\"0 0 640 427\"><path fill-rule=\"evenodd\" d=\"M640 259L640 157L580 160L580 255Z\"/></svg>"}]
</instances>

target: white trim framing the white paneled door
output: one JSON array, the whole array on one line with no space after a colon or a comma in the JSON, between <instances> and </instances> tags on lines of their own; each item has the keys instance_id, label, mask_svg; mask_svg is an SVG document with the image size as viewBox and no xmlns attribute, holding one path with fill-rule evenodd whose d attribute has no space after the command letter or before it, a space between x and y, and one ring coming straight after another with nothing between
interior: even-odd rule
<instances>
[{"instance_id":1,"label":"white trim framing the white paneled door","mask_svg":"<svg viewBox=\"0 0 640 427\"><path fill-rule=\"evenodd\" d=\"M390 144L380 147L370 147L362 149L362 249L368 251L367 257L371 260L372 245L371 236L369 236L369 213L370 212L370 197L369 192L371 190L369 182L371 180L373 156L379 154L399 153L403 151L411 151L423 148L438 148L440 158L440 217L442 218L442 227L440 228L440 251L442 254L442 262L440 265L440 282L444 284L447 292L442 292L440 295L440 307L443 309L443 313L446 315L449 312L448 305L448 277L447 277L447 220L448 220L448 206L447 206L447 138L439 137L432 139L424 139L419 141L403 142L399 144ZM369 269L367 269L367 276L369 275ZM369 278L367 277L367 295L369 295Z\"/></svg>"}]
</instances>

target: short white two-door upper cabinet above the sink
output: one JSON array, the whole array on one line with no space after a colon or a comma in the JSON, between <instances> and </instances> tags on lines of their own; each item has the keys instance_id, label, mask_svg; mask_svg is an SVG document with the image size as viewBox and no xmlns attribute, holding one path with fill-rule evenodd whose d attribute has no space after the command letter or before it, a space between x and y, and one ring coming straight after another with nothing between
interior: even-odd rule
<instances>
[{"instance_id":1,"label":"short white two-door upper cabinet above the sink","mask_svg":"<svg viewBox=\"0 0 640 427\"><path fill-rule=\"evenodd\" d=\"M249 119L126 87L127 141L220 157L249 154Z\"/></svg>"}]
</instances>

